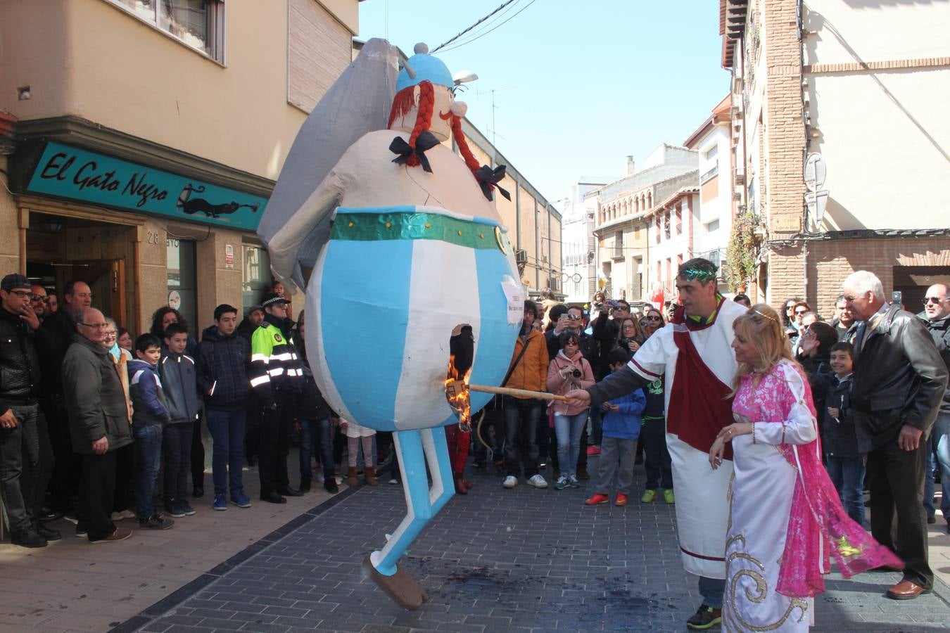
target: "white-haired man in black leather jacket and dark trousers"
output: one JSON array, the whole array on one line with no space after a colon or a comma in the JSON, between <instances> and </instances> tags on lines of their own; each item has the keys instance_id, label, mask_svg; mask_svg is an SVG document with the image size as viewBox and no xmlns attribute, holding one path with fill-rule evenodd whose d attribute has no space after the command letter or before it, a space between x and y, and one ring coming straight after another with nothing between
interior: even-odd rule
<instances>
[{"instance_id":1,"label":"white-haired man in black leather jacket and dark trousers","mask_svg":"<svg viewBox=\"0 0 950 633\"><path fill-rule=\"evenodd\" d=\"M921 320L884 303L873 273L852 273L844 294L854 318L864 321L854 340L851 406L858 449L867 453L871 533L904 563L903 579L887 597L907 600L933 589L921 501L926 439L940 411L947 369Z\"/></svg>"}]
</instances>

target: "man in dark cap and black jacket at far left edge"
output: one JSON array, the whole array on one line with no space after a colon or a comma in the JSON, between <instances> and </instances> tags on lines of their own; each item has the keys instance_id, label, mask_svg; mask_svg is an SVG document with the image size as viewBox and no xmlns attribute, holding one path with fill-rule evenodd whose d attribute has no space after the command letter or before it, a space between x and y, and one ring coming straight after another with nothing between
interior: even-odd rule
<instances>
[{"instance_id":1,"label":"man in dark cap and black jacket at far left edge","mask_svg":"<svg viewBox=\"0 0 950 633\"><path fill-rule=\"evenodd\" d=\"M29 305L30 283L25 276L9 274L0 281L0 302L0 491L13 545L42 548L47 539L59 538L59 532L39 525L33 507L40 466L37 345L47 354L49 337Z\"/></svg>"}]
</instances>

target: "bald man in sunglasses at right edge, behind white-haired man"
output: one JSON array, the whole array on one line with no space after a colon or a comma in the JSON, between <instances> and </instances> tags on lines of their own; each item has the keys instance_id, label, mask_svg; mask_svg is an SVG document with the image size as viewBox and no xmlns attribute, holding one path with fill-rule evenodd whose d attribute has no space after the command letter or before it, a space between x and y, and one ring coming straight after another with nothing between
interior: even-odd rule
<instances>
[{"instance_id":1,"label":"bald man in sunglasses at right edge, behind white-haired man","mask_svg":"<svg viewBox=\"0 0 950 633\"><path fill-rule=\"evenodd\" d=\"M950 371L950 296L947 290L946 284L934 284L928 288L927 295L923 299L923 311L918 316L930 331L930 336L934 338L934 343L940 351L940 357L943 363L946 363L947 370ZM934 430L930 436L930 450L927 456L932 458L934 453L940 461L940 478L943 487L940 512L943 512L943 519L947 522L947 533L950 533L950 389L943 394L940 413L937 414L937 421L934 423ZM926 478L923 493L924 507L927 506L927 502L930 502L930 507L927 508L928 523L934 516L934 478L933 468L929 466L928 464L924 473Z\"/></svg>"}]
</instances>

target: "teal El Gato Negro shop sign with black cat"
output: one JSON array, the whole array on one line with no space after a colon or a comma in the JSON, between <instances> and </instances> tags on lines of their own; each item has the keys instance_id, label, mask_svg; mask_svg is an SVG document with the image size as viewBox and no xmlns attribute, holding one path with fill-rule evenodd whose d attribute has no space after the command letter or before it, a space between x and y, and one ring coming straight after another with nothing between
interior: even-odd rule
<instances>
[{"instance_id":1,"label":"teal El Gato Negro shop sign with black cat","mask_svg":"<svg viewBox=\"0 0 950 633\"><path fill-rule=\"evenodd\" d=\"M267 198L47 142L26 191L123 211L257 230Z\"/></svg>"}]
</instances>

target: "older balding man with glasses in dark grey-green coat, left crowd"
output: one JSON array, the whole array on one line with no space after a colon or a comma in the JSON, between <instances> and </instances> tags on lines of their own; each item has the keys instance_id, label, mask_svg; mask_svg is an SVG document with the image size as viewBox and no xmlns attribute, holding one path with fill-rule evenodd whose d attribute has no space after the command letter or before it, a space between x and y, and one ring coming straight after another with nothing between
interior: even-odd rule
<instances>
[{"instance_id":1,"label":"older balding man with glasses in dark grey-green coat, left crowd","mask_svg":"<svg viewBox=\"0 0 950 633\"><path fill-rule=\"evenodd\" d=\"M116 485L115 451L132 443L125 393L116 365L103 346L107 324L94 307L76 319L73 344L63 359L63 388L73 450L83 457L77 535L91 542L121 541L132 531L111 519Z\"/></svg>"}]
</instances>

